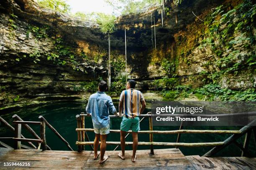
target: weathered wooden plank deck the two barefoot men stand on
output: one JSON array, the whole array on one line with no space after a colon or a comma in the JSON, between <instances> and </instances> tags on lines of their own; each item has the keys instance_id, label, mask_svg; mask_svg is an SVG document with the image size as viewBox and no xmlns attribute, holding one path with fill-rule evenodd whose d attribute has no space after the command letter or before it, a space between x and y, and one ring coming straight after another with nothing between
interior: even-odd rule
<instances>
[{"instance_id":1,"label":"weathered wooden plank deck the two barefoot men stand on","mask_svg":"<svg viewBox=\"0 0 256 170\"><path fill-rule=\"evenodd\" d=\"M131 150L126 151L125 160L118 158L120 151L106 151L110 158L102 165L93 160L93 151L56 151L56 150L10 150L0 148L1 170L32 169L122 169L122 170L255 170L256 158L206 158L198 155L184 156L179 149L138 150L136 163L131 162ZM6 162L26 162L29 167L4 167Z\"/></svg>"}]
</instances>

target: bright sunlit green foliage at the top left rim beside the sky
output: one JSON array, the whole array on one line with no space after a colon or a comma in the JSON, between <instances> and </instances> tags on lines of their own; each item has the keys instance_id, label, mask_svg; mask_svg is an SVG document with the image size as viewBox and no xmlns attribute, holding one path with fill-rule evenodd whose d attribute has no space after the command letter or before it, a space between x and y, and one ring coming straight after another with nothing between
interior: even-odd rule
<instances>
[{"instance_id":1,"label":"bright sunlit green foliage at the top left rim beside the sky","mask_svg":"<svg viewBox=\"0 0 256 170\"><path fill-rule=\"evenodd\" d=\"M41 7L49 8L62 13L70 12L70 5L65 0L37 0Z\"/></svg>"}]
</instances>

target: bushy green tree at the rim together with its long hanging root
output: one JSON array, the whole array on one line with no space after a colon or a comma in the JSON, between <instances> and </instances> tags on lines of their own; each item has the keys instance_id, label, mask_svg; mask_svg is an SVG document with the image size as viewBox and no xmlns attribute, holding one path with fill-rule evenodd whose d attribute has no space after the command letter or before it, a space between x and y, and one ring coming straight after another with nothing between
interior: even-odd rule
<instances>
[{"instance_id":1,"label":"bushy green tree at the rim together with its long hanging root","mask_svg":"<svg viewBox=\"0 0 256 170\"><path fill-rule=\"evenodd\" d=\"M100 31L108 34L108 90L111 88L111 64L110 64L110 34L115 30L115 16L99 13L97 16L97 23L100 25Z\"/></svg>"}]
</instances>

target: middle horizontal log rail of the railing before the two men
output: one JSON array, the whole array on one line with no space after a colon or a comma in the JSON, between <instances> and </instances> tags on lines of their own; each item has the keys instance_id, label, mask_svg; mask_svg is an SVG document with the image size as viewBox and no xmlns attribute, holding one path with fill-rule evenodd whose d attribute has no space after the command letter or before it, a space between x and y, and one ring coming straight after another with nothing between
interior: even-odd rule
<instances>
[{"instance_id":1,"label":"middle horizontal log rail of the railing before the two men","mask_svg":"<svg viewBox=\"0 0 256 170\"><path fill-rule=\"evenodd\" d=\"M88 131L88 132L94 132L94 129L92 128L76 128L76 131ZM120 133L120 130L113 130L110 129L111 133ZM132 133L131 130L129 130L126 133ZM138 133L157 133L157 134L179 134L179 133L228 133L228 134L240 134L240 130L141 130L138 131Z\"/></svg>"}]
</instances>

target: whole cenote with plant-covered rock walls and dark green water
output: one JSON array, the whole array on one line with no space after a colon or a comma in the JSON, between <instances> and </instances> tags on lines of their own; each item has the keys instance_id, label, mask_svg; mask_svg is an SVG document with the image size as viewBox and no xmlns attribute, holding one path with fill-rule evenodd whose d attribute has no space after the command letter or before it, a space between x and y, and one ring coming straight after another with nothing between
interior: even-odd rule
<instances>
[{"instance_id":1,"label":"whole cenote with plant-covered rock walls and dark green water","mask_svg":"<svg viewBox=\"0 0 256 170\"><path fill-rule=\"evenodd\" d=\"M151 111L152 100L256 101L255 1L113 1L117 3L104 0L119 9L118 14L117 11L104 13L106 8L101 13L72 13L67 3L74 0L0 1L0 116L3 119L13 125L14 114L27 121L38 121L42 115L77 150L75 116L85 112L87 100L97 91L100 80L108 83L107 93L116 108L127 80L135 80L135 89L143 92L147 102L143 114ZM60 6L53 7L52 2ZM99 1L83 2L86 5L79 6L84 8L90 3L99 9L102 5ZM121 118L111 118L110 128L119 130L120 122ZM85 126L92 128L90 117L86 117ZM39 126L31 125L31 128L40 134ZM148 118L141 122L140 128L149 130ZM241 128L184 127L191 130ZM154 126L153 129L178 130L179 127ZM34 138L25 128L22 134ZM255 132L252 134L248 154L256 157ZM88 135L93 141L94 133ZM182 134L180 142L222 142L230 135ZM1 122L0 137L13 136ZM148 134L139 134L138 138L149 141ZM245 135L236 141L243 145L244 139ZM154 134L154 142L175 143L176 140L177 134ZM120 141L120 134L110 133L107 141ZM126 141L132 141L131 135ZM3 139L3 142L14 145L13 140ZM52 150L68 150L47 127L46 142ZM107 150L115 147L108 145ZM203 155L211 148L179 147L184 155ZM144 149L149 146L138 146L138 150ZM90 147L86 146L86 150ZM241 150L231 143L215 156L241 156Z\"/></svg>"}]
</instances>

